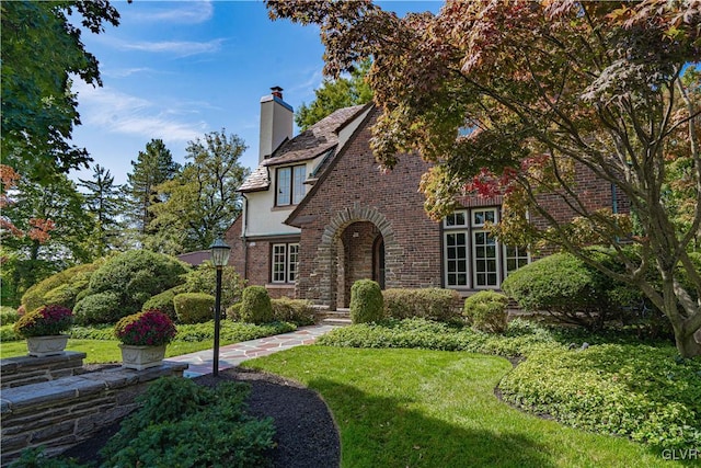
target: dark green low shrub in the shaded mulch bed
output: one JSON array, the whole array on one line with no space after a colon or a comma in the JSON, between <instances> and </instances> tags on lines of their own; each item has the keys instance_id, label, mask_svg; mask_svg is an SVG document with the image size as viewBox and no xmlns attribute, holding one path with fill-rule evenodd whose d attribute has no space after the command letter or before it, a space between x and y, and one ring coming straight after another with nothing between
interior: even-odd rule
<instances>
[{"instance_id":1,"label":"dark green low shrub in the shaded mulch bed","mask_svg":"<svg viewBox=\"0 0 701 468\"><path fill-rule=\"evenodd\" d=\"M262 466L275 430L272 420L246 414L248 393L241 383L212 390L189 379L157 380L103 448L105 466Z\"/></svg>"}]
</instances>

